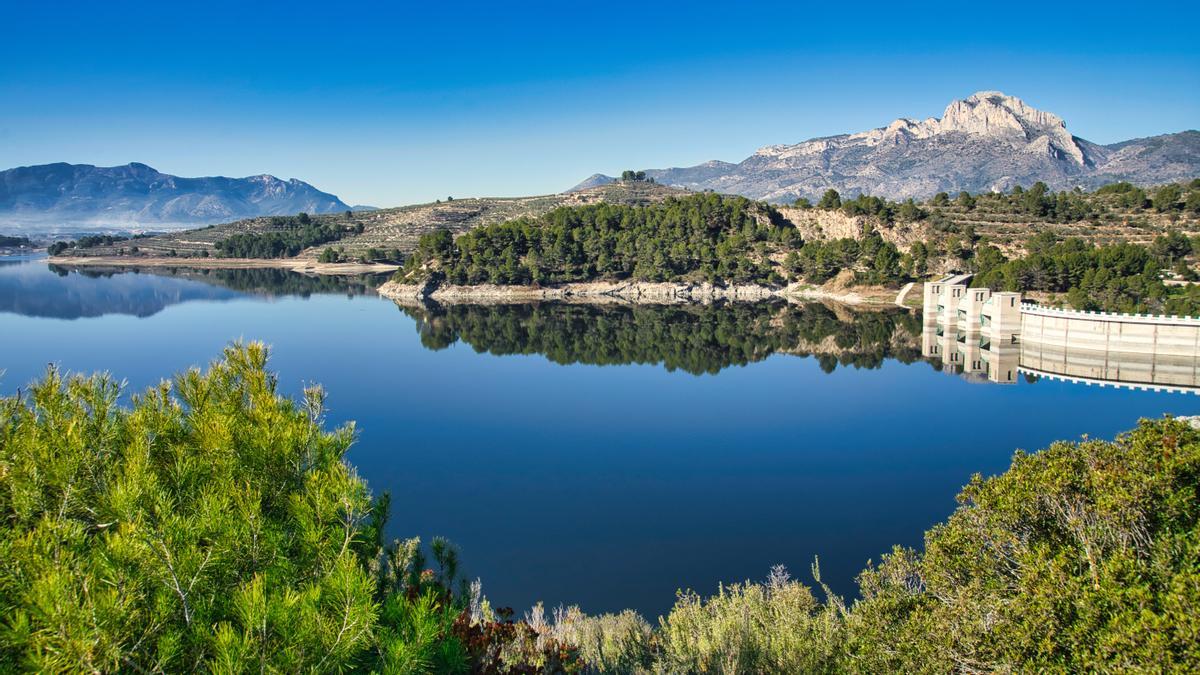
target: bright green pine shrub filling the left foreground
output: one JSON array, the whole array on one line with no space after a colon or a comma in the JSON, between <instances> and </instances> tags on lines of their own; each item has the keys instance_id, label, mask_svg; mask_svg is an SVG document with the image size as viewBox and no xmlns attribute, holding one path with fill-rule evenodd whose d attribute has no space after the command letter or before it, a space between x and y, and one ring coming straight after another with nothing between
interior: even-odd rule
<instances>
[{"instance_id":1,"label":"bright green pine shrub filling the left foreground","mask_svg":"<svg viewBox=\"0 0 1200 675\"><path fill-rule=\"evenodd\" d=\"M382 552L353 426L265 364L230 347L128 408L54 369L0 399L2 669L463 669L450 595Z\"/></svg>"}]
</instances>

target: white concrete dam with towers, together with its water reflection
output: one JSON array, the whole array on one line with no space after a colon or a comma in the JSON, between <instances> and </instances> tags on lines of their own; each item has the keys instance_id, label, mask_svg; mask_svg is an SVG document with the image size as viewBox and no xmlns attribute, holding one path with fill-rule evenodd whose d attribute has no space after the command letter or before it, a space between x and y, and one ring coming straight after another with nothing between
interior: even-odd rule
<instances>
[{"instance_id":1,"label":"white concrete dam with towers, together with its water reflection","mask_svg":"<svg viewBox=\"0 0 1200 675\"><path fill-rule=\"evenodd\" d=\"M1040 307L968 280L925 285L922 354L947 372L1200 393L1200 319Z\"/></svg>"}]
</instances>

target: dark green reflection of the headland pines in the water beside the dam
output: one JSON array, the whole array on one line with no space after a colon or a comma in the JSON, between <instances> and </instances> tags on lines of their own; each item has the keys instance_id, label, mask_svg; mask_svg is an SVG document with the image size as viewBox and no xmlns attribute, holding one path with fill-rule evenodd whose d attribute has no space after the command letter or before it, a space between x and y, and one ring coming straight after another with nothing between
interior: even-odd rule
<instances>
[{"instance_id":1,"label":"dark green reflection of the headland pines in the water beside the dam","mask_svg":"<svg viewBox=\"0 0 1200 675\"><path fill-rule=\"evenodd\" d=\"M662 364L694 375L760 362L775 352L815 356L821 369L878 368L920 358L920 318L904 310L834 311L784 303L710 306L450 305L402 311L421 344L456 341L492 354L542 354L559 364ZM830 340L832 339L832 340ZM832 342L832 345L830 345Z\"/></svg>"}]
</instances>

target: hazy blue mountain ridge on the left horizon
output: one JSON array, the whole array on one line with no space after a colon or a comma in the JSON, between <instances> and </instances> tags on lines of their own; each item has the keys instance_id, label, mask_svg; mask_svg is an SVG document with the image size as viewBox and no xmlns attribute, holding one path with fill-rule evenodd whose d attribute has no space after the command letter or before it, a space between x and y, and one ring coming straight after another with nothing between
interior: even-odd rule
<instances>
[{"instance_id":1,"label":"hazy blue mountain ridge on the left horizon","mask_svg":"<svg viewBox=\"0 0 1200 675\"><path fill-rule=\"evenodd\" d=\"M194 227L263 215L349 210L312 185L274 175L181 178L146 165L53 163L0 172L0 225Z\"/></svg>"}]
</instances>

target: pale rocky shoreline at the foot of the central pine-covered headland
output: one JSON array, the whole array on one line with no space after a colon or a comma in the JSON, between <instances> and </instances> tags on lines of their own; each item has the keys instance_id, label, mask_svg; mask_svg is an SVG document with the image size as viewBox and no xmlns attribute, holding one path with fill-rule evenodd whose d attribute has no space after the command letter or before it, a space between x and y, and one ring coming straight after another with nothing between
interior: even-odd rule
<instances>
[{"instance_id":1,"label":"pale rocky shoreline at the foot of the central pine-covered headland","mask_svg":"<svg viewBox=\"0 0 1200 675\"><path fill-rule=\"evenodd\" d=\"M772 287L756 283L714 286L682 281L588 281L556 286L475 286L443 285L431 287L386 281L376 289L380 297L400 305L422 305L434 301L443 305L484 305L563 301L584 304L647 304L689 305L712 303L758 303L764 300L832 300L845 305L889 305L894 291L887 295L845 289L826 289L803 283ZM865 291L865 289L864 289Z\"/></svg>"}]
</instances>

